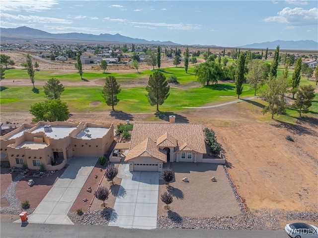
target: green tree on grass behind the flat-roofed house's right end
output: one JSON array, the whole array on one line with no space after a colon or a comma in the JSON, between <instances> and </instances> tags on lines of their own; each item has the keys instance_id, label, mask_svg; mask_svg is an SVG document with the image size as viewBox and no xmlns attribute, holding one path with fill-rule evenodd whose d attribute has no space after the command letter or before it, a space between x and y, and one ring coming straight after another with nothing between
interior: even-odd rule
<instances>
[{"instance_id":1,"label":"green tree on grass behind the flat-roofed house's right end","mask_svg":"<svg viewBox=\"0 0 318 238\"><path fill-rule=\"evenodd\" d=\"M105 85L102 93L107 105L111 106L113 111L115 111L114 106L116 106L119 102L117 94L120 93L120 91L120 84L117 83L114 76L109 76L105 79Z\"/></svg>"}]
</instances>

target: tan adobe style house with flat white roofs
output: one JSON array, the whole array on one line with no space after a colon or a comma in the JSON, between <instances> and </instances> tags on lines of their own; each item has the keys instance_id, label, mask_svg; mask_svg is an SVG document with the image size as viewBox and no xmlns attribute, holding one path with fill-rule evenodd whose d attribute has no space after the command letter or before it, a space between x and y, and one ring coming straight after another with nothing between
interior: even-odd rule
<instances>
[{"instance_id":1,"label":"tan adobe style house with flat white roofs","mask_svg":"<svg viewBox=\"0 0 318 238\"><path fill-rule=\"evenodd\" d=\"M112 123L25 123L0 137L0 155L11 167L57 170L71 157L103 156L113 140Z\"/></svg>"}]
</instances>

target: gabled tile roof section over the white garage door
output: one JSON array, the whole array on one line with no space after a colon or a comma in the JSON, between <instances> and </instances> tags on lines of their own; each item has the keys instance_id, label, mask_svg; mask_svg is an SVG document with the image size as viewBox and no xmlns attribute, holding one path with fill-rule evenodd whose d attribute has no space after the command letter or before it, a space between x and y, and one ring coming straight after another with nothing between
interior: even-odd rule
<instances>
[{"instance_id":1,"label":"gabled tile roof section over the white garage door","mask_svg":"<svg viewBox=\"0 0 318 238\"><path fill-rule=\"evenodd\" d=\"M125 162L136 157L153 157L163 162L167 161L166 152L158 149L156 143L149 137L134 148L129 149Z\"/></svg>"}]
</instances>

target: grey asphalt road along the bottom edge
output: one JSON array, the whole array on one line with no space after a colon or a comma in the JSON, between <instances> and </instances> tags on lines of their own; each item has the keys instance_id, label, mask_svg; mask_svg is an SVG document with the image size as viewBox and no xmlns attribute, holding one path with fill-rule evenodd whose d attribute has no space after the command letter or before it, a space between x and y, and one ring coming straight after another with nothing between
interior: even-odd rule
<instances>
[{"instance_id":1,"label":"grey asphalt road along the bottom edge","mask_svg":"<svg viewBox=\"0 0 318 238\"><path fill-rule=\"evenodd\" d=\"M0 223L2 238L288 238L281 231L195 229L138 230L89 225Z\"/></svg>"}]
</instances>

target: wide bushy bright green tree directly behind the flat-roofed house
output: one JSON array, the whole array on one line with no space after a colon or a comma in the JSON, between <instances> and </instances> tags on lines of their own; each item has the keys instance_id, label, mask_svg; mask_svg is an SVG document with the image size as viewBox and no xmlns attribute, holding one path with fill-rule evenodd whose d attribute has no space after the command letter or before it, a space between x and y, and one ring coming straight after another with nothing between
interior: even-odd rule
<instances>
[{"instance_id":1,"label":"wide bushy bright green tree directly behind the flat-roofed house","mask_svg":"<svg viewBox=\"0 0 318 238\"><path fill-rule=\"evenodd\" d=\"M32 119L38 121L66 121L70 117L68 105L61 99L49 99L44 102L36 102L30 107L30 113L35 116Z\"/></svg>"}]
</instances>

